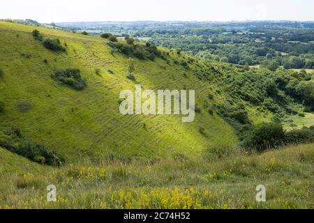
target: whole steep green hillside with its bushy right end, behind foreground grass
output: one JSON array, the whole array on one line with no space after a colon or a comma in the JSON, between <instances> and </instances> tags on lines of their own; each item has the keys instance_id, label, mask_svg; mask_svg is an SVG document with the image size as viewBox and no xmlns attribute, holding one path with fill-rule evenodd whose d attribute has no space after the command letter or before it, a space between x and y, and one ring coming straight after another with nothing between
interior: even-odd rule
<instances>
[{"instance_id":1,"label":"whole steep green hillside with its bushy right end, behind foreground grass","mask_svg":"<svg viewBox=\"0 0 314 223\"><path fill-rule=\"evenodd\" d=\"M66 51L46 49L33 38L34 29L45 39L59 39ZM162 56L154 61L134 58L132 81L126 78L128 56L107 39L10 22L0 22L0 32L1 126L19 128L67 162L195 156L209 146L237 144L251 125L302 109L285 91L272 95L267 89L274 77L297 78L292 71L232 66L159 48ZM56 70L69 68L80 69L84 90L52 78ZM135 89L135 83L143 90L194 89L195 121L119 114L119 93Z\"/></svg>"}]
</instances>

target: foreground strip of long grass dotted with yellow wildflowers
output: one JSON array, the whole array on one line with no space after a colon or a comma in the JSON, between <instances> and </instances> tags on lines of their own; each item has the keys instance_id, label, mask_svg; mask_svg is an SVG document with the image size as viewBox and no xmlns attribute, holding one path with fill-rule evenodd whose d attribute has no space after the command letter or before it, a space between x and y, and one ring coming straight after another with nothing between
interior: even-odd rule
<instances>
[{"instance_id":1,"label":"foreground strip of long grass dotted with yellow wildflowers","mask_svg":"<svg viewBox=\"0 0 314 223\"><path fill-rule=\"evenodd\" d=\"M2 159L8 155L0 150ZM171 162L170 162L171 161ZM17 160L16 160L17 162ZM18 166L27 160L18 161ZM1 208L314 208L314 144L261 155L239 151L211 161L103 162L59 169L29 167L1 171ZM32 164L33 165L33 164ZM57 202L45 200L57 186ZM267 202L255 201L255 187L266 185Z\"/></svg>"}]
</instances>

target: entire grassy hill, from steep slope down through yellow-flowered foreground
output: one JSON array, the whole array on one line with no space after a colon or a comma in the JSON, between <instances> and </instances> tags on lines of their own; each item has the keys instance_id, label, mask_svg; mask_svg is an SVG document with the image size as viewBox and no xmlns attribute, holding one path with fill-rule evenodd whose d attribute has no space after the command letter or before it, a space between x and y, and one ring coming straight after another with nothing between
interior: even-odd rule
<instances>
[{"instance_id":1,"label":"entire grassy hill, from steep slope down through yellow-flowered foreground","mask_svg":"<svg viewBox=\"0 0 314 223\"><path fill-rule=\"evenodd\" d=\"M47 39L61 50L47 49ZM234 148L257 123L290 117L311 123L311 113L297 116L305 105L294 89L273 84L288 77L308 84L308 74L166 48L139 59L126 51L131 48L151 49L0 22L0 208L313 208L313 144L258 155ZM86 86L73 89L73 79L56 79L68 69L79 70ZM119 114L119 93L135 84L195 90L195 121ZM32 162L14 154L17 144L62 155L66 164ZM45 201L51 183L61 191L57 203ZM269 203L255 202L260 183L269 185Z\"/></svg>"}]
</instances>

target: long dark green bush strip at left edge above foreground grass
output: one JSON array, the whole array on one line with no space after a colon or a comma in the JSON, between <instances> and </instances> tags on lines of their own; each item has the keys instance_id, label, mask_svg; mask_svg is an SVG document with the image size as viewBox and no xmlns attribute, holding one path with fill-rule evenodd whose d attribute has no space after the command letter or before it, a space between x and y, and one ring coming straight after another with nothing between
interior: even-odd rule
<instances>
[{"instance_id":1,"label":"long dark green bush strip at left edge above foreground grass","mask_svg":"<svg viewBox=\"0 0 314 223\"><path fill-rule=\"evenodd\" d=\"M0 128L0 146L41 164L61 166L65 163L63 156L27 139L17 128Z\"/></svg>"}]
</instances>

